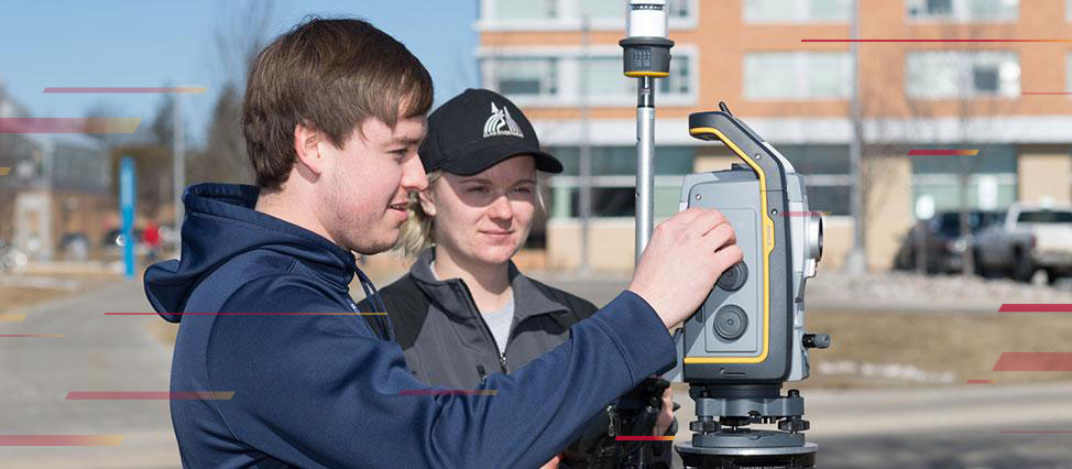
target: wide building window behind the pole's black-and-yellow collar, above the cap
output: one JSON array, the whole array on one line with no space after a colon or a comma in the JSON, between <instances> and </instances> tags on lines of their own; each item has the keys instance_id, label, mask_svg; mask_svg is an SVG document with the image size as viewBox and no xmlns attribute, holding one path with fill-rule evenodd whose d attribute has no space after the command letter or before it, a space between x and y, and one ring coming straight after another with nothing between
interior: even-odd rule
<instances>
[{"instance_id":1,"label":"wide building window behind the pole's black-and-yellow collar, above the cap","mask_svg":"<svg viewBox=\"0 0 1072 469\"><path fill-rule=\"evenodd\" d=\"M694 51L694 50L693 50ZM515 56L493 51L481 61L482 86L523 107L578 106L587 94L592 106L628 106L636 101L636 79L622 74L622 55L595 47L586 59L580 48L562 48L549 56ZM516 52L525 54L524 51ZM689 106L697 99L696 54L682 47L672 56L670 76L656 80L660 103Z\"/></svg>"}]
</instances>

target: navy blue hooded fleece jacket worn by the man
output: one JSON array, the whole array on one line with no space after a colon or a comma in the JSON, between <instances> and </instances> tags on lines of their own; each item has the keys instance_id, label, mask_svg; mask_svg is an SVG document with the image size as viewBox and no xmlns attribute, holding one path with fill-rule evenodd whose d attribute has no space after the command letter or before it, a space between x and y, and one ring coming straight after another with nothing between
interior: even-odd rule
<instances>
[{"instance_id":1,"label":"navy blue hooded fleece jacket worn by the man","mask_svg":"<svg viewBox=\"0 0 1072 469\"><path fill-rule=\"evenodd\" d=\"M490 375L480 389L495 395L429 393L402 349L353 315L353 255L254 211L256 195L187 189L182 260L145 273L153 307L182 320L172 391L233 392L172 401L184 467L538 467L674 362L658 316L625 292L562 346Z\"/></svg>"}]
</instances>

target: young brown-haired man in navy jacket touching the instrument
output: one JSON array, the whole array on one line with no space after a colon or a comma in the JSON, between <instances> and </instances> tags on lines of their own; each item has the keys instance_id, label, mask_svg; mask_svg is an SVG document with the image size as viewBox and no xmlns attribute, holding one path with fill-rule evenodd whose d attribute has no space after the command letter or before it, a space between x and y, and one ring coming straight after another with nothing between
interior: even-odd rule
<instances>
[{"instance_id":1,"label":"young brown-haired man in navy jacket touching the instrument","mask_svg":"<svg viewBox=\"0 0 1072 469\"><path fill-rule=\"evenodd\" d=\"M679 214L627 292L530 366L488 377L495 395L437 393L348 291L358 275L376 296L352 252L392 247L408 193L427 187L430 105L420 63L363 21L310 20L256 58L243 129L258 187L187 189L182 259L145 273L153 307L182 321L172 391L233 392L172 401L185 467L537 467L672 364L666 328L741 259L721 214Z\"/></svg>"}]
</instances>

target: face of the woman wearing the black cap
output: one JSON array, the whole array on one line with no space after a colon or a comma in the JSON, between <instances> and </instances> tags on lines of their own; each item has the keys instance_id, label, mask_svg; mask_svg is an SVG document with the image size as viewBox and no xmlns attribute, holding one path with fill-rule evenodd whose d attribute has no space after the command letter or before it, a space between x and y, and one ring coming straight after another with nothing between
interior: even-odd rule
<instances>
[{"instance_id":1,"label":"face of the woman wearing the black cap","mask_svg":"<svg viewBox=\"0 0 1072 469\"><path fill-rule=\"evenodd\" d=\"M430 197L429 197L430 195ZM455 259L500 264L528 238L536 212L536 162L522 155L472 176L444 173L422 196L435 241Z\"/></svg>"}]
</instances>

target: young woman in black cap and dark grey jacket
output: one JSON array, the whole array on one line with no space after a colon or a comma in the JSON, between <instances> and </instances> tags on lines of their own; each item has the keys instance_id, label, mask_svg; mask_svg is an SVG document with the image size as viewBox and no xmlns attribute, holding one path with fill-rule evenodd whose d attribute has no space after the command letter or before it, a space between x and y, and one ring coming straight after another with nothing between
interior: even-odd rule
<instances>
[{"instance_id":1,"label":"young woman in black cap and dark grey jacket","mask_svg":"<svg viewBox=\"0 0 1072 469\"><path fill-rule=\"evenodd\" d=\"M433 385L472 390L488 374L508 373L565 342L570 326L597 308L511 262L542 206L537 171L562 171L513 102L489 90L462 92L431 113L419 154L428 188L411 197L400 238L416 260L380 293L413 373ZM647 432L664 435L670 426L669 395L663 393L665 410ZM606 445L594 441L605 437L608 422L597 416L584 443L549 465L605 463ZM650 447L668 465L669 445Z\"/></svg>"}]
</instances>

